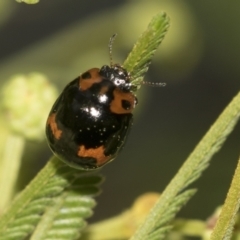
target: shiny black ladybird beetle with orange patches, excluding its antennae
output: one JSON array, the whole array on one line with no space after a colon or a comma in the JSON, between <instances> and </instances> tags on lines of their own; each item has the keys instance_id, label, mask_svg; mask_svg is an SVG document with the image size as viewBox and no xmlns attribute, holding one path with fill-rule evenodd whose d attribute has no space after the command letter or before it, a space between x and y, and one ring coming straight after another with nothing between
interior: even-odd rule
<instances>
[{"instance_id":1,"label":"shiny black ladybird beetle with orange patches, excluding its antennae","mask_svg":"<svg viewBox=\"0 0 240 240\"><path fill-rule=\"evenodd\" d=\"M46 124L51 150L68 165L102 167L122 149L137 99L129 74L119 65L93 68L70 82Z\"/></svg>"}]
</instances>

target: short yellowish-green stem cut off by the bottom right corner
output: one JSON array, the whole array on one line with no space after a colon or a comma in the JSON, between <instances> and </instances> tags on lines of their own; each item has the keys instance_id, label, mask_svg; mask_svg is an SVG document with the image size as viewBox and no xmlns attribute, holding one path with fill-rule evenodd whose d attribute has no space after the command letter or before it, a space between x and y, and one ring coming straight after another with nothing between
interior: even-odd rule
<instances>
[{"instance_id":1,"label":"short yellowish-green stem cut off by the bottom right corner","mask_svg":"<svg viewBox=\"0 0 240 240\"><path fill-rule=\"evenodd\" d=\"M231 239L235 217L240 206L240 160L232 179L225 203L211 234L211 240Z\"/></svg>"}]
</instances>

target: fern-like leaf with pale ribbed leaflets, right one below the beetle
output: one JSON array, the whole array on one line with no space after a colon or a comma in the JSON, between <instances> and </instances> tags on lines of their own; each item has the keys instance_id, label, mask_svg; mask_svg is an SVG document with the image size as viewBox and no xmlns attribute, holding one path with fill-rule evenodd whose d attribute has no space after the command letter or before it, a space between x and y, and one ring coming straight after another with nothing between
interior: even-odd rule
<instances>
[{"instance_id":1,"label":"fern-like leaf with pale ribbed leaflets, right one below the beetle","mask_svg":"<svg viewBox=\"0 0 240 240\"><path fill-rule=\"evenodd\" d=\"M32 240L78 239L86 226L85 218L92 215L100 176L80 176L62 194L55 198L41 218ZM83 189L85 189L83 191Z\"/></svg>"}]
</instances>

